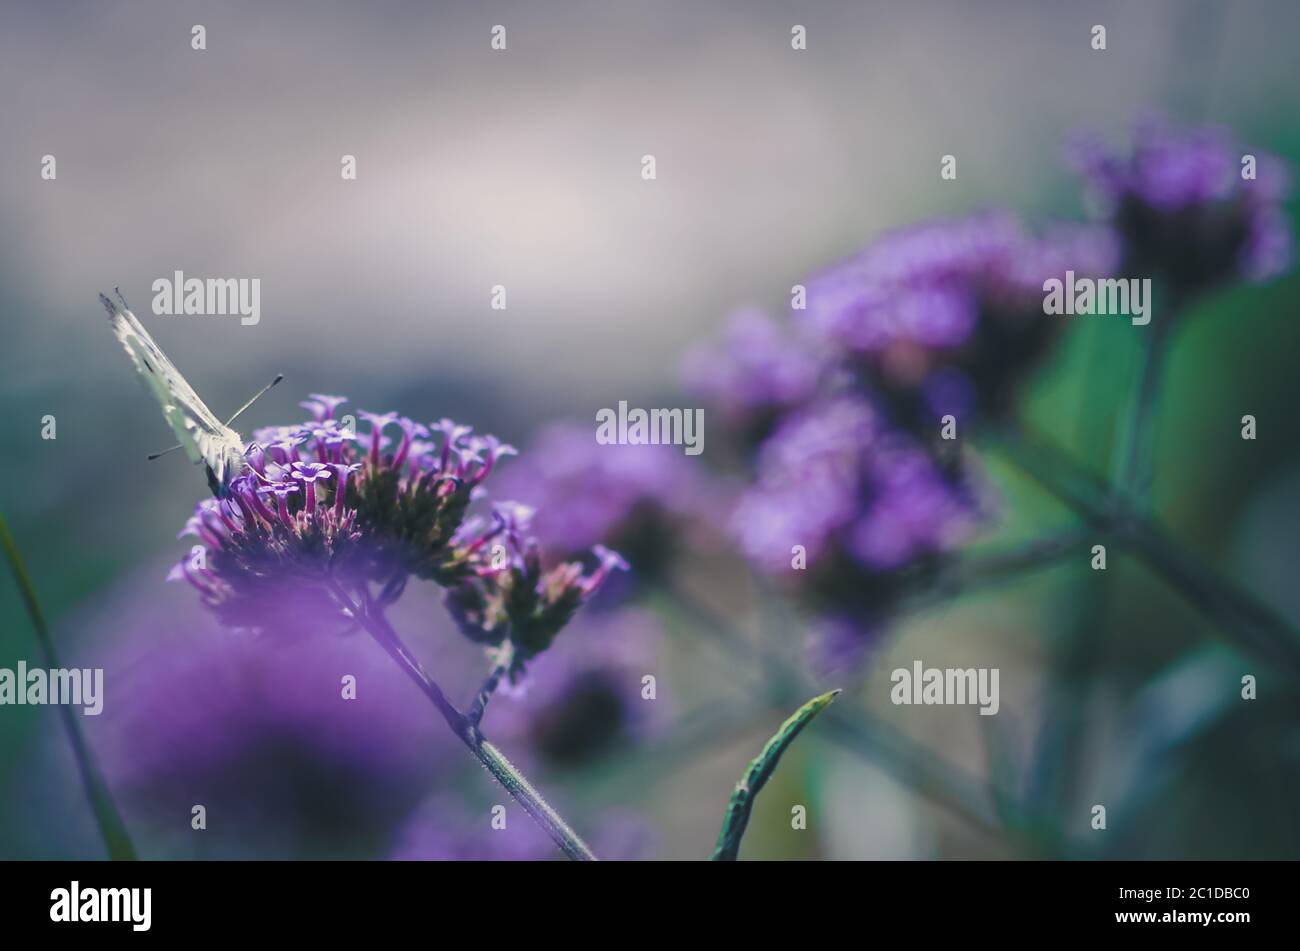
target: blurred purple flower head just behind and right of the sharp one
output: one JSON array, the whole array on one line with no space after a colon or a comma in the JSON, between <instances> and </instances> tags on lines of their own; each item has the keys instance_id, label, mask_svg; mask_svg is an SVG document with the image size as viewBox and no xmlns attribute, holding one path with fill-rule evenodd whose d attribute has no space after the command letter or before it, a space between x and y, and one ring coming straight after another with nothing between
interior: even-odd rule
<instances>
[{"instance_id":1,"label":"blurred purple flower head just behind and right of the sharp one","mask_svg":"<svg viewBox=\"0 0 1300 951\"><path fill-rule=\"evenodd\" d=\"M533 529L552 555L585 557L606 543L642 578L667 565L710 509L708 483L680 447L602 446L594 429L573 424L545 429L502 487L536 508Z\"/></svg>"}]
</instances>

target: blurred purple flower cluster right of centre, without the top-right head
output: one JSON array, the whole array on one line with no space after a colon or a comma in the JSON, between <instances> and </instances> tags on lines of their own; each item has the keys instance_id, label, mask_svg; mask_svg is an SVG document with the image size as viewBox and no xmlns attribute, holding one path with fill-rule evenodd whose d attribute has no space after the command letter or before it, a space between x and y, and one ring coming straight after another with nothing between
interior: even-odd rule
<instances>
[{"instance_id":1,"label":"blurred purple flower cluster right of centre, without the top-right head","mask_svg":"<svg viewBox=\"0 0 1300 951\"><path fill-rule=\"evenodd\" d=\"M731 326L723 346L741 353L712 357L714 396L766 413L767 431L731 525L819 615L838 644L823 653L859 657L901 596L987 521L987 492L959 443L939 439L940 420L1006 413L1061 327L1044 314L1044 282L1115 260L1101 227L1034 233L978 214L887 234L810 279L794 312L802 338L749 317ZM706 357L693 360L701 373ZM764 370L783 382L764 390Z\"/></svg>"}]
</instances>

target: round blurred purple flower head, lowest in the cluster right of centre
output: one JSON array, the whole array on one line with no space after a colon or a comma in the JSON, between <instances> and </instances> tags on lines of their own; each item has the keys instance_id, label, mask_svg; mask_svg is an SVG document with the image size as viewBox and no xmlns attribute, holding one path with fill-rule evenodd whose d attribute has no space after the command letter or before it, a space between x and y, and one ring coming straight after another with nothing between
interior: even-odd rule
<instances>
[{"instance_id":1,"label":"round blurred purple flower head, lowest in the cluster right of centre","mask_svg":"<svg viewBox=\"0 0 1300 951\"><path fill-rule=\"evenodd\" d=\"M793 413L762 446L732 526L744 552L819 612L880 618L987 516L974 478L940 468L864 398Z\"/></svg>"}]
</instances>

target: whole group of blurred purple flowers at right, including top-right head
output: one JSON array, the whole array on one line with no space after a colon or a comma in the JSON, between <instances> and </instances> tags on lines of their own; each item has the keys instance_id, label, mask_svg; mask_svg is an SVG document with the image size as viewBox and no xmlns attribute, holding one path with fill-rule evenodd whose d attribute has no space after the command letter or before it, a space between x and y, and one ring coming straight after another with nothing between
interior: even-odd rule
<instances>
[{"instance_id":1,"label":"whole group of blurred purple flowers at right, including top-right head","mask_svg":"<svg viewBox=\"0 0 1300 951\"><path fill-rule=\"evenodd\" d=\"M861 656L987 520L959 437L1014 411L1065 326L1044 312L1049 279L1186 294L1290 260L1284 169L1218 130L1150 123L1128 157L1076 156L1108 221L1034 230L993 212L893 231L806 282L797 334L746 313L688 357L688 385L758 446L734 535L816 611L829 653ZM948 416L957 440L940 438Z\"/></svg>"}]
</instances>

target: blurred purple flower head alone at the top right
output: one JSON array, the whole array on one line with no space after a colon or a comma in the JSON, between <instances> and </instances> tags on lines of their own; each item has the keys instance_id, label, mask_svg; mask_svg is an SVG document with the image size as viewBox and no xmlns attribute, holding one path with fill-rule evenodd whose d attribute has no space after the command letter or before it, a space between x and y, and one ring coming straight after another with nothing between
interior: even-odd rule
<instances>
[{"instance_id":1,"label":"blurred purple flower head alone at the top right","mask_svg":"<svg viewBox=\"0 0 1300 951\"><path fill-rule=\"evenodd\" d=\"M1262 281L1290 264L1287 169L1258 153L1254 178L1243 178L1248 149L1226 130L1147 120L1128 155L1092 139L1079 139L1071 151L1123 240L1124 274L1200 291L1235 278Z\"/></svg>"}]
</instances>

